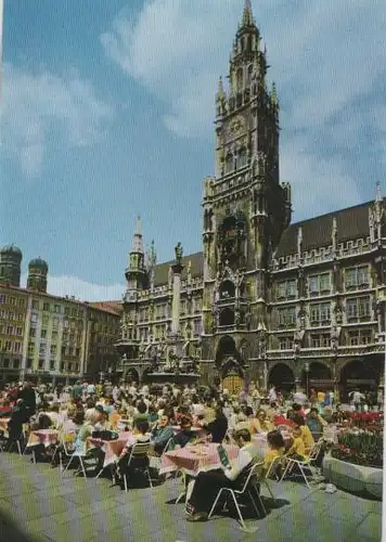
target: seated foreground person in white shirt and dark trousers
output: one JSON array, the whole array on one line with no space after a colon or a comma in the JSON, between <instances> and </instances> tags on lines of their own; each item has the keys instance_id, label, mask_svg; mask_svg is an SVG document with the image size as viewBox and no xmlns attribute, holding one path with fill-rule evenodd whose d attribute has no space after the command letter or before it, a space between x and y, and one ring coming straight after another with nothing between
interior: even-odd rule
<instances>
[{"instance_id":1,"label":"seated foreground person in white shirt and dark trousers","mask_svg":"<svg viewBox=\"0 0 386 542\"><path fill-rule=\"evenodd\" d=\"M188 521L207 521L209 511L221 488L239 488L239 476L252 464L250 434L247 429L236 431L235 441L240 447L237 457L231 465L218 470L201 472L195 478L192 494L186 504L190 516Z\"/></svg>"}]
</instances>

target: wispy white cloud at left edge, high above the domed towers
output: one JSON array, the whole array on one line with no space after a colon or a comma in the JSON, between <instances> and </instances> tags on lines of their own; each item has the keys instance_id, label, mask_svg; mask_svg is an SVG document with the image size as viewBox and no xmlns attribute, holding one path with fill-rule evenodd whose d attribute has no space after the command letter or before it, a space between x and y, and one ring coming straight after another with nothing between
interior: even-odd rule
<instances>
[{"instance_id":1,"label":"wispy white cloud at left edge, high above the domed towers","mask_svg":"<svg viewBox=\"0 0 386 542\"><path fill-rule=\"evenodd\" d=\"M5 64L3 74L2 147L34 178L48 144L85 146L98 140L112 107L76 73L57 77L28 73Z\"/></svg>"}]
</instances>

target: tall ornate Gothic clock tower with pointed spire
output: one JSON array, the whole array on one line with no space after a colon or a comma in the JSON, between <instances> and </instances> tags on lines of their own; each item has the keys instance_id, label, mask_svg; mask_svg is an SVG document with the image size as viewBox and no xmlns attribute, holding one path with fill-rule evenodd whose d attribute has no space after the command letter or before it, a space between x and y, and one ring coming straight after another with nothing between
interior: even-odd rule
<instances>
[{"instance_id":1,"label":"tall ornate Gothic clock tower with pointed spire","mask_svg":"<svg viewBox=\"0 0 386 542\"><path fill-rule=\"evenodd\" d=\"M246 0L227 89L219 79L216 176L205 180L203 198L203 365L207 361L209 374L215 361L222 377L230 369L245 376L246 365L256 373L269 263L291 221L291 189L279 181L279 101L275 86L267 87L268 67Z\"/></svg>"}]
</instances>

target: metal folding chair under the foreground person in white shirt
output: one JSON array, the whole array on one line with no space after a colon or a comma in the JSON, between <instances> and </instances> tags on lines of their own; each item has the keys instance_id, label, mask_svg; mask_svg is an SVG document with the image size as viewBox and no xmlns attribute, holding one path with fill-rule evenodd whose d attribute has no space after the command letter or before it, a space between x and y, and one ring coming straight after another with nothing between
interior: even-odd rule
<instances>
[{"instance_id":1,"label":"metal folding chair under the foreground person in white shirt","mask_svg":"<svg viewBox=\"0 0 386 542\"><path fill-rule=\"evenodd\" d=\"M266 507L261 501L261 498L259 495L259 491L256 488L256 486L258 483L257 472L258 472L258 469L262 468L262 465L263 465L263 462L255 463L250 467L248 467L244 473L241 473L239 475L239 478L236 478L236 481L240 481L241 489L221 488L219 490L219 492L217 493L217 496L216 496L215 502L210 508L208 517L209 518L211 517L211 515L216 508L216 505L217 505L220 496L222 495L222 493L228 492L230 494L230 496L232 498L233 503L235 505L235 508L237 511L237 515L240 518L240 522L242 525L242 529L246 530L243 514L241 513L237 498L240 499L241 496L248 496L249 501L252 502L252 504L255 508L256 514L259 516L260 513L257 509L256 502L255 502L254 496L252 494L252 490L255 490L255 494L257 496L259 505L261 506L261 509L263 511L265 515L267 515Z\"/></svg>"}]
</instances>

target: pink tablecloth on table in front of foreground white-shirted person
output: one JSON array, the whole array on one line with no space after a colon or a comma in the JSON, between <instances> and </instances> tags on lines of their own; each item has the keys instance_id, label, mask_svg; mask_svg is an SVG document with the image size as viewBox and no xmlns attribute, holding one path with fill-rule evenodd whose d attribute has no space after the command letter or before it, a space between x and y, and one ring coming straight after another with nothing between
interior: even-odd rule
<instances>
[{"instance_id":1,"label":"pink tablecloth on table in front of foreground white-shirted person","mask_svg":"<svg viewBox=\"0 0 386 542\"><path fill-rule=\"evenodd\" d=\"M198 470L221 468L217 447L218 444L215 443L200 444L166 452L162 460L159 474L182 469L191 476L196 476ZM237 446L223 444L223 447L230 460L237 457L240 450Z\"/></svg>"}]
</instances>

